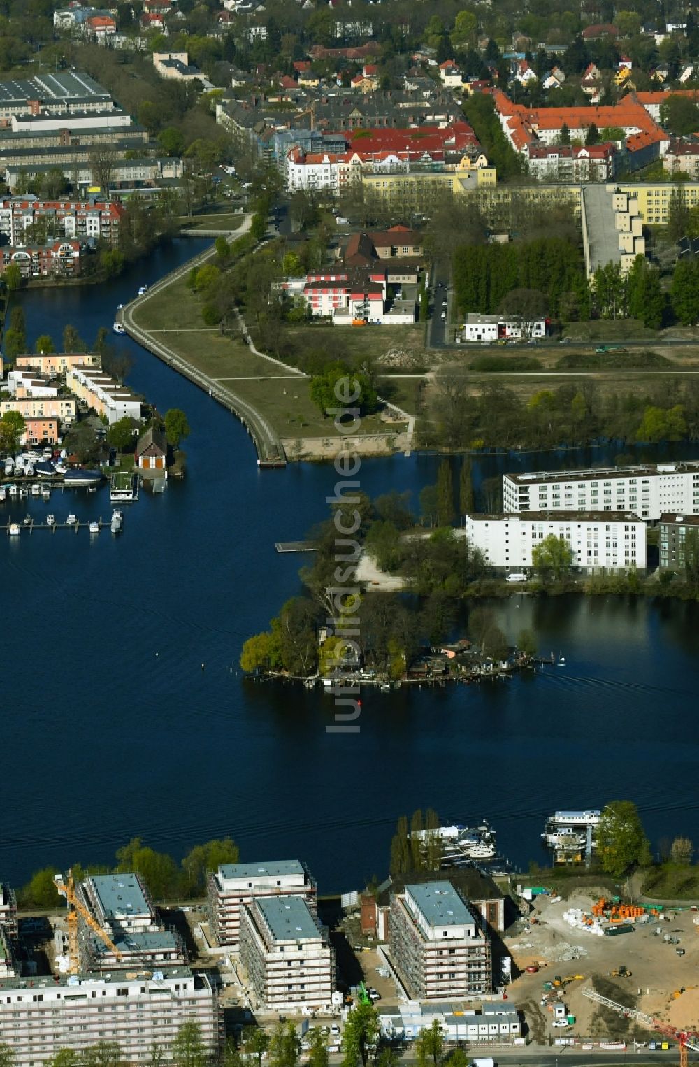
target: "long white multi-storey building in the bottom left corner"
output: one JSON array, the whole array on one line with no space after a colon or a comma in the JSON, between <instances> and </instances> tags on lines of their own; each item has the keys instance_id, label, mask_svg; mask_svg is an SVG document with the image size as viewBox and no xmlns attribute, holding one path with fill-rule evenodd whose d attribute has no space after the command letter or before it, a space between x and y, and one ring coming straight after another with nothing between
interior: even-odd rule
<instances>
[{"instance_id":1,"label":"long white multi-storey building in the bottom left corner","mask_svg":"<svg viewBox=\"0 0 699 1067\"><path fill-rule=\"evenodd\" d=\"M196 1022L207 1050L220 1041L216 992L189 968L156 971L152 978L47 975L0 981L0 1041L16 1067L41 1067L61 1049L81 1052L115 1041L128 1063L147 1063L157 1046L172 1061L172 1042L185 1022Z\"/></svg>"}]
</instances>

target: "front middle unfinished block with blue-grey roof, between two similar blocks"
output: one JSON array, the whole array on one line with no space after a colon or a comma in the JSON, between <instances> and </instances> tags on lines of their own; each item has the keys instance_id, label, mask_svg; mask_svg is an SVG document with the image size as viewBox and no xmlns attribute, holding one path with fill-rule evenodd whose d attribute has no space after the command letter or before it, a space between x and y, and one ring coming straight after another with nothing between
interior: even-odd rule
<instances>
[{"instance_id":1,"label":"front middle unfinished block with blue-grey roof, between two similar blocks","mask_svg":"<svg viewBox=\"0 0 699 1067\"><path fill-rule=\"evenodd\" d=\"M302 896L255 897L242 909L240 961L259 1007L331 1007L335 953Z\"/></svg>"}]
</instances>

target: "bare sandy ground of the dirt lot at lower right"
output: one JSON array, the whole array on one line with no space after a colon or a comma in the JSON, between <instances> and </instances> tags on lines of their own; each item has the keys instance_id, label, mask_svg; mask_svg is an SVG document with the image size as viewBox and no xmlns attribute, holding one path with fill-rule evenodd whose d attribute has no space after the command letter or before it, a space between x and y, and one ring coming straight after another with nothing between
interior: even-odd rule
<instances>
[{"instance_id":1,"label":"bare sandy ground of the dirt lot at lower right","mask_svg":"<svg viewBox=\"0 0 699 1067\"><path fill-rule=\"evenodd\" d=\"M669 1021L676 1028L696 1029L699 1024L699 926L693 924L692 913L667 910L665 914L669 921L652 920L638 925L633 934L617 937L595 936L566 922L563 913L569 908L589 911L599 895L587 890L573 894L568 901L538 897L531 917L536 923L529 920L523 933L506 939L506 946L519 969L524 972L528 965L540 966L536 974L522 973L508 989L510 999L525 1012L533 1036L538 1040L550 1035L603 1036L606 1023L614 1028L615 1036L620 1033L619 1025L623 1032L623 1020L617 1021L583 996L584 988L593 987L593 978L598 991L610 1000L622 1000L626 1006ZM665 935L678 938L680 943L668 944ZM678 956L677 949L684 949L685 955ZM543 962L545 966L541 967ZM610 972L620 965L632 972L630 978L611 977ZM576 1019L569 1031L552 1029L553 1016L540 1005L542 983L553 982L554 975L563 980L578 975L566 985L560 998ZM673 999L673 991L683 987L685 992ZM639 1039L648 1037L638 1029L636 1034Z\"/></svg>"}]
</instances>

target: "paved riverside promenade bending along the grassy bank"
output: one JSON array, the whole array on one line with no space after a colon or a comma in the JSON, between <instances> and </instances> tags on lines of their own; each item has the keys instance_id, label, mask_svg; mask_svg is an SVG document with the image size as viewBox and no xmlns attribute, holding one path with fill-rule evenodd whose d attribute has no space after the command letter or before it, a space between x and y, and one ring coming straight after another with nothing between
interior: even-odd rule
<instances>
[{"instance_id":1,"label":"paved riverside promenade bending along the grassy bank","mask_svg":"<svg viewBox=\"0 0 699 1067\"><path fill-rule=\"evenodd\" d=\"M228 242L231 243L238 237L247 234L250 230L251 222L252 216L249 214L243 220L239 229L226 235ZM134 313L138 312L139 308L143 307L148 300L162 292L163 289L166 289L175 282L178 282L184 275L189 274L193 267L201 267L215 256L216 249L211 246L210 249L207 249L206 252L202 252L200 255L189 259L181 267L178 267L177 270L165 274L153 286L150 286L146 292L143 293L143 296L136 297L128 304L125 304L124 307L120 308L116 313L116 321L121 322L129 337L138 341L139 345L142 345L143 348L146 348L154 355L158 356L158 359L162 360L163 363L171 366L173 370L176 370L185 378L188 378L195 385L198 385L200 388L208 393L210 397L218 400L224 408L227 408L228 411L238 416L255 444L258 466L285 466L286 456L284 453L282 442L268 420L260 415L255 408L249 404L242 399L242 397L238 396L220 381L217 381L198 370L198 368L193 366L193 364L191 364L180 353L175 352L172 348L169 348L168 345L164 345L161 340L157 339L152 332L140 327L134 320Z\"/></svg>"}]
</instances>

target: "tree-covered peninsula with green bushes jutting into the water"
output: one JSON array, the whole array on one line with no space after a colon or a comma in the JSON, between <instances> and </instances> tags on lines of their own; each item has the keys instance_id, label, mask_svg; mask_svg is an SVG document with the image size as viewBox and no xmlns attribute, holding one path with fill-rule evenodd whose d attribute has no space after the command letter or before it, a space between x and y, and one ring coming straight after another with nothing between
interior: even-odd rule
<instances>
[{"instance_id":1,"label":"tree-covered peninsula with green bushes jutting into the water","mask_svg":"<svg viewBox=\"0 0 699 1067\"><path fill-rule=\"evenodd\" d=\"M297 680L308 687L442 685L503 678L522 669L545 669L556 660L547 650L538 655L530 631L519 634L511 646L479 600L513 592L699 599L699 552L687 554L679 575L662 572L646 578L632 570L610 577L575 577L568 546L547 538L537 548L531 580L513 585L495 578L464 531L451 525L457 495L459 513L473 510L468 460L462 465L458 494L456 489L450 466L443 461L436 485L420 493L419 521L408 506L408 494L391 492L371 500L359 493L355 503L334 503L331 517L308 535L314 555L300 572L305 592L283 605L268 631L245 641L242 669L255 679ZM336 529L358 522L349 542L352 558L343 557L352 588L338 598ZM464 603L473 605L465 633L454 640Z\"/></svg>"}]
</instances>

